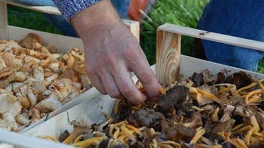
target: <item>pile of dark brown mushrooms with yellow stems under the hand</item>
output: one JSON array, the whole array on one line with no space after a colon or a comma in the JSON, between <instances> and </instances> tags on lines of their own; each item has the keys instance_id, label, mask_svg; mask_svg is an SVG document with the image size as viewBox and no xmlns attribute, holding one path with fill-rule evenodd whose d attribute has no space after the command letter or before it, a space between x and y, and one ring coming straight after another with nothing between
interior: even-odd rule
<instances>
[{"instance_id":1,"label":"pile of dark brown mushrooms with yellow stems under the hand","mask_svg":"<svg viewBox=\"0 0 264 148\"><path fill-rule=\"evenodd\" d=\"M72 133L43 138L77 147L264 147L262 81L243 71L193 73L155 101L117 100L105 122L73 121Z\"/></svg>"}]
</instances>

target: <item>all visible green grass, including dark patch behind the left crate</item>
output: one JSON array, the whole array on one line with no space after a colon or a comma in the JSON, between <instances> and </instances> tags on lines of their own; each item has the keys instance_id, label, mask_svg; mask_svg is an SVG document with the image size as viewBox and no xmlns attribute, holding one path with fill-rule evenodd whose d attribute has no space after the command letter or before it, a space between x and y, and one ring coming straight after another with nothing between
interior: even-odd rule
<instances>
[{"instance_id":1,"label":"all visible green grass, including dark patch behind the left crate","mask_svg":"<svg viewBox=\"0 0 264 148\"><path fill-rule=\"evenodd\" d=\"M158 0L141 24L141 47L150 64L155 63L156 29L163 23L173 23L196 28L204 7L210 0ZM9 25L62 34L39 12L8 6ZM182 54L196 56L193 38L182 36ZM264 59L260 60L258 72L264 73Z\"/></svg>"}]
</instances>

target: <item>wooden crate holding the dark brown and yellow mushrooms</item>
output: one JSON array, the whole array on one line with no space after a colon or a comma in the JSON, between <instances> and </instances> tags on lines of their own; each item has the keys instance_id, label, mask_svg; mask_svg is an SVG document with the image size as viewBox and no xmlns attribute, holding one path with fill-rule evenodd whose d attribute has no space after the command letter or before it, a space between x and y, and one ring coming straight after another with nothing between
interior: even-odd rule
<instances>
[{"instance_id":1,"label":"wooden crate holding the dark brown and yellow mushrooms","mask_svg":"<svg viewBox=\"0 0 264 148\"><path fill-rule=\"evenodd\" d=\"M260 73L181 55L181 35L188 35L204 40L264 51L263 42L257 42L168 23L163 24L157 29L157 58L156 64L152 65L152 70L155 72L159 83L162 84L163 87L171 86L172 83L177 79L177 75L179 73L183 74L185 78L187 78L192 76L193 72L202 72L205 69L210 70L213 75L218 73L221 69L227 69L231 70L232 72L245 71L258 79L264 78L264 75ZM132 76L136 81L136 76ZM25 139L24 141L12 141L8 138L4 139L0 136L0 141L4 139L5 142L28 147L44 147L39 143L45 143L45 146L50 144L51 146L51 144L54 143L35 138L35 136L58 137L58 135L65 129L71 132L72 126L69 124L69 121L74 119L84 120L86 123L90 124L101 122L105 120L101 113L105 112L111 114L114 103L115 99L110 98L109 96L98 95L97 97L91 98L80 103L79 105L67 109L67 111L60 113L46 122L43 122L35 128L24 132L24 134L28 134L33 137L24 135L24 137L27 137L28 139ZM9 134L13 139L16 137L21 138L20 135L13 133L11 135L9 132L0 130L0 135L2 134ZM27 142L30 144L27 144ZM61 144L55 144L52 146L58 147L61 146Z\"/></svg>"}]
</instances>

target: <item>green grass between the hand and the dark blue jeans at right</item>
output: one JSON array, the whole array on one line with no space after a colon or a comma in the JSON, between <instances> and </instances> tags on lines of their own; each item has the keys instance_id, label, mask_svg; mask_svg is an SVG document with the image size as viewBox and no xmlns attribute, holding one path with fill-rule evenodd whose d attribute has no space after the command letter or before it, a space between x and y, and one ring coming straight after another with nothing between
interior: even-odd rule
<instances>
[{"instance_id":1,"label":"green grass between the hand and the dark blue jeans at right","mask_svg":"<svg viewBox=\"0 0 264 148\"><path fill-rule=\"evenodd\" d=\"M204 7L210 0L159 0L142 23L141 46L150 64L155 63L156 29L163 23L196 28ZM193 38L182 36L181 53L195 56Z\"/></svg>"}]
</instances>

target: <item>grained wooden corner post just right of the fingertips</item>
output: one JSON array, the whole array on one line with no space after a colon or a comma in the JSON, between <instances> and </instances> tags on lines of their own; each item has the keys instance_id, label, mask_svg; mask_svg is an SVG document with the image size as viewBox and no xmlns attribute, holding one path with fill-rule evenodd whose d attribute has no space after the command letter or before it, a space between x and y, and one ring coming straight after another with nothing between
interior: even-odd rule
<instances>
[{"instance_id":1,"label":"grained wooden corner post just right of the fingertips","mask_svg":"<svg viewBox=\"0 0 264 148\"><path fill-rule=\"evenodd\" d=\"M163 87L171 87L180 72L181 35L157 30L156 77Z\"/></svg>"}]
</instances>

